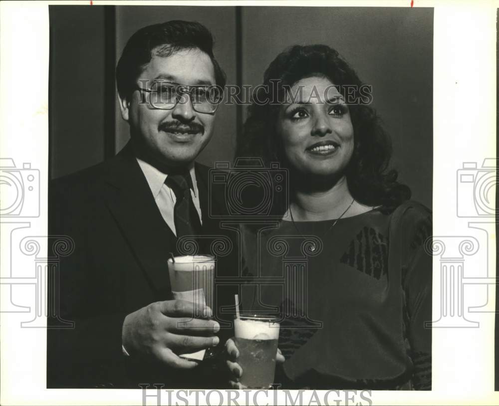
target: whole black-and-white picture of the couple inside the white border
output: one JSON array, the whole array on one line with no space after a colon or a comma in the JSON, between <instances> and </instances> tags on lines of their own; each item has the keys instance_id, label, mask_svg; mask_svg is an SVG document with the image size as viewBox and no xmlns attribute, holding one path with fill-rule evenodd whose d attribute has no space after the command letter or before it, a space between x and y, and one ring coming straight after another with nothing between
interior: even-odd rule
<instances>
[{"instance_id":1,"label":"whole black-and-white picture of the couple inside the white border","mask_svg":"<svg viewBox=\"0 0 499 406\"><path fill-rule=\"evenodd\" d=\"M47 387L431 390L433 10L375 11L49 7Z\"/></svg>"}]
</instances>

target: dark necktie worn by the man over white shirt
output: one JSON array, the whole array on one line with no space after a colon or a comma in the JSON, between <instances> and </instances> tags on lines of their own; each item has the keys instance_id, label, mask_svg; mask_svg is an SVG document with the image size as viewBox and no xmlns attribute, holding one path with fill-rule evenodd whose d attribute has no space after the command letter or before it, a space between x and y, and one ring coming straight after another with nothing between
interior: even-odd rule
<instances>
[{"instance_id":1,"label":"dark necktie worn by the man over white shirt","mask_svg":"<svg viewBox=\"0 0 499 406\"><path fill-rule=\"evenodd\" d=\"M201 221L191 196L191 174L168 175L165 184L173 190L177 202L174 207L174 221L177 238L184 235L199 235Z\"/></svg>"}]
</instances>

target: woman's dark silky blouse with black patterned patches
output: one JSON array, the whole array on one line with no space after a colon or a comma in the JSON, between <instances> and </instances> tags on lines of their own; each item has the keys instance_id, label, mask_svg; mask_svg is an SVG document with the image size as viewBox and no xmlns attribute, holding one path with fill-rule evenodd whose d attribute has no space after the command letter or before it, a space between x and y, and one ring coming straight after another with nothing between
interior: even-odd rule
<instances>
[{"instance_id":1,"label":"woman's dark silky blouse with black patterned patches","mask_svg":"<svg viewBox=\"0 0 499 406\"><path fill-rule=\"evenodd\" d=\"M243 307L280 317L283 389L431 390L431 211L244 227Z\"/></svg>"}]
</instances>

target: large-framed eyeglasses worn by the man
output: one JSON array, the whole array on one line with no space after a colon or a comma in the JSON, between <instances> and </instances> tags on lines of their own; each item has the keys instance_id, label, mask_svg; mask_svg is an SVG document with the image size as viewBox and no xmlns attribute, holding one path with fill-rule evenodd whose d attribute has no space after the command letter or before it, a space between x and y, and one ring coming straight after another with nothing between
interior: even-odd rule
<instances>
[{"instance_id":1,"label":"large-framed eyeglasses worn by the man","mask_svg":"<svg viewBox=\"0 0 499 406\"><path fill-rule=\"evenodd\" d=\"M198 113L213 114L223 98L220 86L189 86L174 82L155 82L151 89L137 85L137 89L149 93L149 103L155 109L175 108L183 94L189 95L192 107Z\"/></svg>"}]
</instances>

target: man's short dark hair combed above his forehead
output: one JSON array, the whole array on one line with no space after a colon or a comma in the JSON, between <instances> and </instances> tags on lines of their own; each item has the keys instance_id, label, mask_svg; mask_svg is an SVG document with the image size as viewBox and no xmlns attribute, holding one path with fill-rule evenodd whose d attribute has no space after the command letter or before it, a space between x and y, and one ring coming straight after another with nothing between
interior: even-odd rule
<instances>
[{"instance_id":1,"label":"man's short dark hair combed above his forehead","mask_svg":"<svg viewBox=\"0 0 499 406\"><path fill-rule=\"evenodd\" d=\"M208 54L215 68L216 84L224 87L226 75L213 54L213 36L208 28L196 21L172 20L141 28L130 37L116 66L120 97L130 99L153 51L167 57L182 49L195 48Z\"/></svg>"}]
</instances>

